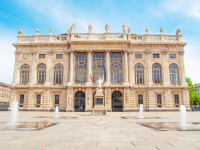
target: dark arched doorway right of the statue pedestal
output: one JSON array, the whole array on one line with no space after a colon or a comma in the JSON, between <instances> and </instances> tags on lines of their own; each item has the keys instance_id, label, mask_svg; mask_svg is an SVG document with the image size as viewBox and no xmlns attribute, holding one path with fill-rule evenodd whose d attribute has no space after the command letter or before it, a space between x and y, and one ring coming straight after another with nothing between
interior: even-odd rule
<instances>
[{"instance_id":1,"label":"dark arched doorway right of the statue pedestal","mask_svg":"<svg viewBox=\"0 0 200 150\"><path fill-rule=\"evenodd\" d=\"M112 94L112 111L122 112L122 93L119 91Z\"/></svg>"}]
</instances>

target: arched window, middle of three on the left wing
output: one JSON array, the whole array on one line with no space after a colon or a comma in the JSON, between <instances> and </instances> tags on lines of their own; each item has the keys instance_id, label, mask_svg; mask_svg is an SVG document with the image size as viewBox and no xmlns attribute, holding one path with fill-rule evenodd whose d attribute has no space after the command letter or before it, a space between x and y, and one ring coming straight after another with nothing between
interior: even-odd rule
<instances>
[{"instance_id":1,"label":"arched window, middle of three on the left wing","mask_svg":"<svg viewBox=\"0 0 200 150\"><path fill-rule=\"evenodd\" d=\"M46 65L40 64L37 68L37 83L45 83L46 81Z\"/></svg>"}]
</instances>

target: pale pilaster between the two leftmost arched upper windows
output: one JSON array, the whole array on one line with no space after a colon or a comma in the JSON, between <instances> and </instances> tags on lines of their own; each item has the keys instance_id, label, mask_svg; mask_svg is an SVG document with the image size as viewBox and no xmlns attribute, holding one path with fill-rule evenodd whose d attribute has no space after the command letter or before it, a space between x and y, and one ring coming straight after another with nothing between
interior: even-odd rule
<instances>
[{"instance_id":1,"label":"pale pilaster between the two leftmost arched upper windows","mask_svg":"<svg viewBox=\"0 0 200 150\"><path fill-rule=\"evenodd\" d=\"M33 86L36 83L37 79L36 57L37 52L32 52L32 61L30 68L30 86Z\"/></svg>"}]
</instances>

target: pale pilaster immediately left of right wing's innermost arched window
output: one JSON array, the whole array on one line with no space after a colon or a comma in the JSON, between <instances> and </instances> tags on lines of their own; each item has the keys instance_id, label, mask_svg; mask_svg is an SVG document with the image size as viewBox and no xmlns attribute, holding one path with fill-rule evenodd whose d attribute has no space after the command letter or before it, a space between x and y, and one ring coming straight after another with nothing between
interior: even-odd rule
<instances>
[{"instance_id":1,"label":"pale pilaster immediately left of right wing's innermost arched window","mask_svg":"<svg viewBox=\"0 0 200 150\"><path fill-rule=\"evenodd\" d=\"M133 68L133 52L129 51L129 80L131 86L135 84L135 73Z\"/></svg>"}]
</instances>

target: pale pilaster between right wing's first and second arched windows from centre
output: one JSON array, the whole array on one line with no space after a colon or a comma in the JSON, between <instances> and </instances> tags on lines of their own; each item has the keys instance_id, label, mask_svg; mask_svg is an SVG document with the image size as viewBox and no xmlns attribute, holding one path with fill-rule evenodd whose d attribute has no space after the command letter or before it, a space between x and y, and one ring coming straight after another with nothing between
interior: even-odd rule
<instances>
[{"instance_id":1,"label":"pale pilaster between right wing's first and second arched windows from centre","mask_svg":"<svg viewBox=\"0 0 200 150\"><path fill-rule=\"evenodd\" d=\"M152 65L151 65L151 51L146 50L146 76L147 76L147 85L148 86L153 86L153 81L152 81Z\"/></svg>"}]
</instances>

